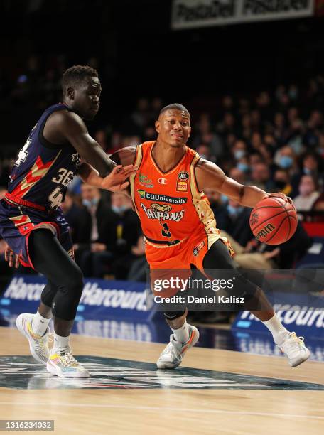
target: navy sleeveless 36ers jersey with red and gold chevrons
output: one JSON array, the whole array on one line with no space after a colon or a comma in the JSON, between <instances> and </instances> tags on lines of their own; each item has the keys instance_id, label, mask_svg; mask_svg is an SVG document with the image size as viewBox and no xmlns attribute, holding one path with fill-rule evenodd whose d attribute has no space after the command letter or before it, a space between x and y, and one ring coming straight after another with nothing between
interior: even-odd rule
<instances>
[{"instance_id":1,"label":"navy sleeveless 36ers jersey with red and gold chevrons","mask_svg":"<svg viewBox=\"0 0 324 435\"><path fill-rule=\"evenodd\" d=\"M41 210L55 210L64 200L80 156L71 144L51 144L43 136L46 120L58 110L70 109L63 103L48 107L31 130L11 171L6 200Z\"/></svg>"}]
</instances>

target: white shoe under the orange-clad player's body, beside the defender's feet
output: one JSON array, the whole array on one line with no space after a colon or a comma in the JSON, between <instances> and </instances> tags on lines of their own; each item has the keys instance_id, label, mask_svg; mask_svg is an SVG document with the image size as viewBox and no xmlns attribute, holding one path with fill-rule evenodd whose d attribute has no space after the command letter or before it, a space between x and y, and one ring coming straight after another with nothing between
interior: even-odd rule
<instances>
[{"instance_id":1,"label":"white shoe under the orange-clad player's body, beside the defender's feet","mask_svg":"<svg viewBox=\"0 0 324 435\"><path fill-rule=\"evenodd\" d=\"M185 343L178 342L173 334L170 335L170 343L163 350L156 363L159 369L175 368L182 363L187 350L192 348L199 339L199 331L195 326L189 325L189 333L189 339Z\"/></svg>"}]
</instances>

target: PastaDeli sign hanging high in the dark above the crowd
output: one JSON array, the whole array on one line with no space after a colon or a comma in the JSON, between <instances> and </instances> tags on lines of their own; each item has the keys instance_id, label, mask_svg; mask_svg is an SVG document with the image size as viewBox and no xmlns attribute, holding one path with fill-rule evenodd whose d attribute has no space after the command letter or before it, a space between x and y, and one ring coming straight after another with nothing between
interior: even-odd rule
<instances>
[{"instance_id":1,"label":"PastaDeli sign hanging high in the dark above the crowd","mask_svg":"<svg viewBox=\"0 0 324 435\"><path fill-rule=\"evenodd\" d=\"M173 0L174 30L313 15L314 0Z\"/></svg>"}]
</instances>

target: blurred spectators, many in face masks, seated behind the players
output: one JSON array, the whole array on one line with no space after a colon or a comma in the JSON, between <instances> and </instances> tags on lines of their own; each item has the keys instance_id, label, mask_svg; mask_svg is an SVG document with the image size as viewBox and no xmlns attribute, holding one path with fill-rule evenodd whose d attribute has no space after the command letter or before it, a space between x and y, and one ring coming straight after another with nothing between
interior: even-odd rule
<instances>
[{"instance_id":1,"label":"blurred spectators, many in face masks, seated behind the players","mask_svg":"<svg viewBox=\"0 0 324 435\"><path fill-rule=\"evenodd\" d=\"M95 63L92 60L93 66ZM30 98L36 67L36 60L31 59L26 77L20 77L16 87L6 92L13 106ZM38 95L33 102L40 104L41 101L44 109L57 101L60 74L54 71L55 68L48 70L43 80L37 79ZM45 100L40 98L42 95ZM159 97L141 98L133 112L124 113L121 122L102 124L93 136L107 154L153 140L156 138L154 121L161 107L171 102ZM193 112L193 131L188 145L203 158L217 163L239 183L291 196L301 222L324 221L322 107L323 75L312 77L306 87L279 85L273 92L262 91L249 97L217 96L214 109L210 109L210 104L206 112L188 107ZM13 156L0 161L0 195L5 191L13 161ZM217 227L226 232L237 252L235 261L239 267L257 267L256 264L260 268L293 267L311 245L301 222L296 235L284 245L259 244L249 228L250 209L212 189L206 194ZM75 178L62 208L70 223L76 261L85 276L145 278L143 237L128 198L82 185ZM3 253L4 244L0 241L2 257Z\"/></svg>"}]
</instances>

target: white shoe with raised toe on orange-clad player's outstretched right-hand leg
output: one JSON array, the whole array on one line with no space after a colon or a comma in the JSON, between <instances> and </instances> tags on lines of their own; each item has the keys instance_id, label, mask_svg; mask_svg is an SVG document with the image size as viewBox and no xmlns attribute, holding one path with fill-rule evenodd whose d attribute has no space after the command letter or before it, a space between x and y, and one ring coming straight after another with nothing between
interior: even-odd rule
<instances>
[{"instance_id":1,"label":"white shoe with raised toe on orange-clad player's outstretched right-hand leg","mask_svg":"<svg viewBox=\"0 0 324 435\"><path fill-rule=\"evenodd\" d=\"M288 363L291 367L297 367L297 365L308 360L311 353L306 348L303 337L297 337L294 332L283 331L279 333L279 338L282 338L283 341L278 346L288 358Z\"/></svg>"}]
</instances>

